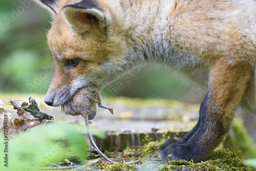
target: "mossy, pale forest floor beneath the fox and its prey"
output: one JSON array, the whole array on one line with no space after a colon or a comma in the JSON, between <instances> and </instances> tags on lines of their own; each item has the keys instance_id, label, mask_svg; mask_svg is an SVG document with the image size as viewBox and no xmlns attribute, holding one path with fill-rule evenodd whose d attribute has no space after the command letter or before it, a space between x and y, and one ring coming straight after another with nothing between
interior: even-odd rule
<instances>
[{"instance_id":1,"label":"mossy, pale forest floor beneath the fox and its prey","mask_svg":"<svg viewBox=\"0 0 256 171\"><path fill-rule=\"evenodd\" d=\"M12 95L9 97L13 99ZM81 116L67 116L61 112L60 108L46 106L42 96L34 98L39 109L52 115L55 122L66 121L84 124ZM1 95L0 99L7 102L4 95ZM22 100L28 101L27 99ZM97 115L91 121L90 126L105 132L109 137L111 134L115 134L116 138L119 138L119 145L112 143L112 146L104 146L106 144L104 140L96 141L101 150L108 149L105 151L105 155L116 163L106 162L91 150L89 159L92 160L78 163L74 166L75 168L53 166L52 170L251 170L243 158L256 157L256 148L252 141L248 140L250 138L247 137L242 122L239 120L235 122L232 132L225 137L225 141L204 161L198 163L184 160L162 162L158 157L158 148L167 138L182 138L184 136L182 133L188 132L195 126L199 116L199 104L123 97L103 99L102 103L112 106L115 114L111 115L108 110L98 108ZM6 111L10 110L11 106L6 106ZM237 136L233 136L235 131L238 132L238 134L235 133ZM143 136L137 140L137 144L127 143L124 136L120 138L121 135L130 134L143 134ZM135 160L139 160L139 162L125 163Z\"/></svg>"}]
</instances>

